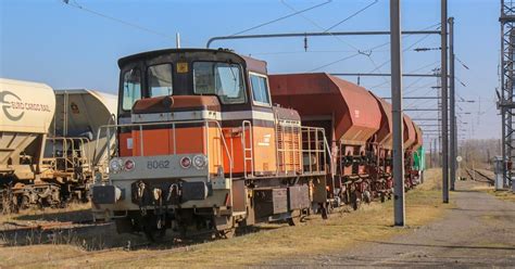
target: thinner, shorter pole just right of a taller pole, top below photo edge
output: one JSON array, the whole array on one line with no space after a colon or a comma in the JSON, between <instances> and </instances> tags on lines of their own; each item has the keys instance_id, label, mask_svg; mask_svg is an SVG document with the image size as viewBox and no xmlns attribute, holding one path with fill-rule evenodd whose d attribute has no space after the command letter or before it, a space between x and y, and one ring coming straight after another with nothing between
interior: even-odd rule
<instances>
[{"instance_id":1,"label":"thinner, shorter pole just right of a taller pole, top below photo edge","mask_svg":"<svg viewBox=\"0 0 515 269\"><path fill-rule=\"evenodd\" d=\"M454 183L456 182L456 114L455 114L455 88L454 88L454 17L449 18L449 72L451 73L449 89L450 89L450 111L451 114L451 157L449 159L451 165L451 191L454 191Z\"/></svg>"}]
</instances>

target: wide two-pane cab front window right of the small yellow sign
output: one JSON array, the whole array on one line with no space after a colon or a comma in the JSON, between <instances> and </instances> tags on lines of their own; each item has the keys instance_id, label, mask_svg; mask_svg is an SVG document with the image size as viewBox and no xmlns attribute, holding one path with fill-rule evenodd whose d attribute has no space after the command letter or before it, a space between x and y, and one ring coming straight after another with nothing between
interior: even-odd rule
<instances>
[{"instance_id":1,"label":"wide two-pane cab front window right of the small yellow sign","mask_svg":"<svg viewBox=\"0 0 515 269\"><path fill-rule=\"evenodd\" d=\"M216 94L224 104L244 103L244 85L239 64L193 63L196 94Z\"/></svg>"}]
</instances>

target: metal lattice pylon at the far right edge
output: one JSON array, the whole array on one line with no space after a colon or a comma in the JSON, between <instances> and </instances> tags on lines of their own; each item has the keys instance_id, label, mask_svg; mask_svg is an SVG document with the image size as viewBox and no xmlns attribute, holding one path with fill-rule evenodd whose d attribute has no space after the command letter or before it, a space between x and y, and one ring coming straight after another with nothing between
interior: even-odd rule
<instances>
[{"instance_id":1,"label":"metal lattice pylon at the far right edge","mask_svg":"<svg viewBox=\"0 0 515 269\"><path fill-rule=\"evenodd\" d=\"M514 87L514 52L515 52L515 2L514 0L501 0L501 100L499 108L502 116L502 155L505 161L503 166L504 184L512 185L515 161L515 140L513 137L513 100Z\"/></svg>"}]
</instances>

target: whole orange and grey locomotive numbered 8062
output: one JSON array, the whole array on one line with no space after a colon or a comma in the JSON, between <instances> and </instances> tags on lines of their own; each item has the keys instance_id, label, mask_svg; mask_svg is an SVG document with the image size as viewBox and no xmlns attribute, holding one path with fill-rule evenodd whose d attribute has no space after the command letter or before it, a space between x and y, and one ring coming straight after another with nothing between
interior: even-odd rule
<instances>
[{"instance_id":1,"label":"whole orange and grey locomotive numbered 8062","mask_svg":"<svg viewBox=\"0 0 515 269\"><path fill-rule=\"evenodd\" d=\"M118 65L118 123L104 127L116 136L116 156L109 183L92 191L93 210L116 219L118 231L152 236L196 226L228 234L325 201L323 130L272 105L265 62L174 49Z\"/></svg>"}]
</instances>

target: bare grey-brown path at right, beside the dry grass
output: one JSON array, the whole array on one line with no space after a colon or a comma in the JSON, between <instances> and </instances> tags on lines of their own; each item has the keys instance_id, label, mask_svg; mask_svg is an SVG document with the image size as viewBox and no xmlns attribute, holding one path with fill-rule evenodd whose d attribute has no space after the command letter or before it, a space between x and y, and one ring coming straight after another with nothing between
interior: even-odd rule
<instances>
[{"instance_id":1,"label":"bare grey-brown path at right, beside the dry grass","mask_svg":"<svg viewBox=\"0 0 515 269\"><path fill-rule=\"evenodd\" d=\"M303 260L278 260L285 267L515 267L515 203L456 185L455 208L428 226L386 241ZM409 216L407 216L409 217Z\"/></svg>"}]
</instances>

